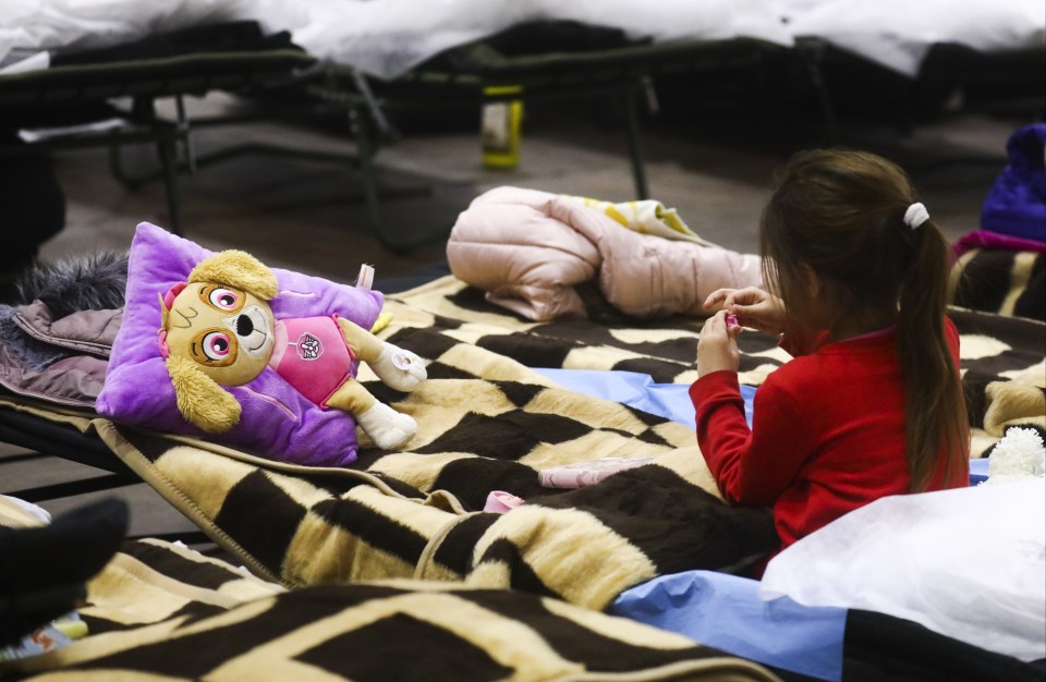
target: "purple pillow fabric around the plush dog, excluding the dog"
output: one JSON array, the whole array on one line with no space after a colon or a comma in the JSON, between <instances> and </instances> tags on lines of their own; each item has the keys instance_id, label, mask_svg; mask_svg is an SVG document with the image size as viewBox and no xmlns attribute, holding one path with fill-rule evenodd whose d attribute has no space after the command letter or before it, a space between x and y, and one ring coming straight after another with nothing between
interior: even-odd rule
<instances>
[{"instance_id":1,"label":"purple pillow fabric around the plush dog, excluding the dog","mask_svg":"<svg viewBox=\"0 0 1046 682\"><path fill-rule=\"evenodd\" d=\"M159 296L184 282L196 264L212 254L148 222L138 224L131 242L123 324L95 404L98 413L113 422L196 436L294 464L342 466L355 461L355 419L339 410L321 410L270 368L244 386L227 387L243 406L240 423L229 431L205 434L182 417L160 355ZM379 292L271 270L279 293L269 305L278 319L337 313L369 329L381 312Z\"/></svg>"}]
</instances>

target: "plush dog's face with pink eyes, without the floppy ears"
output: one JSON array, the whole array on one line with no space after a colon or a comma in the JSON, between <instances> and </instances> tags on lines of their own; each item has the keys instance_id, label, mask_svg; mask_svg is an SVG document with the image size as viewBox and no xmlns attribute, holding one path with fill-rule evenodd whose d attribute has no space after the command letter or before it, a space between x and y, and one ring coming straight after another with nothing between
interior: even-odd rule
<instances>
[{"instance_id":1,"label":"plush dog's face with pink eyes, without the floppy ears","mask_svg":"<svg viewBox=\"0 0 1046 682\"><path fill-rule=\"evenodd\" d=\"M222 386L241 386L262 374L273 339L268 303L215 282L187 284L167 316L171 355L193 361Z\"/></svg>"}]
</instances>

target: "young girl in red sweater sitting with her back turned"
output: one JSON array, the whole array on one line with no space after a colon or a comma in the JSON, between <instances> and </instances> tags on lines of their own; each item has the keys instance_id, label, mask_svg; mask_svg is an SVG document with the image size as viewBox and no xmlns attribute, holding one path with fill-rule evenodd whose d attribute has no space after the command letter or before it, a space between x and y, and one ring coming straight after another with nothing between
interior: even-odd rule
<instances>
[{"instance_id":1,"label":"young girl in red sweater sitting with her back turned","mask_svg":"<svg viewBox=\"0 0 1046 682\"><path fill-rule=\"evenodd\" d=\"M773 507L783 549L877 498L969 485L948 243L904 172L866 153L798 154L764 211L761 252L769 293L705 301L722 309L702 329L690 389L726 500ZM756 391L751 430L742 326L782 333L793 356Z\"/></svg>"}]
</instances>

